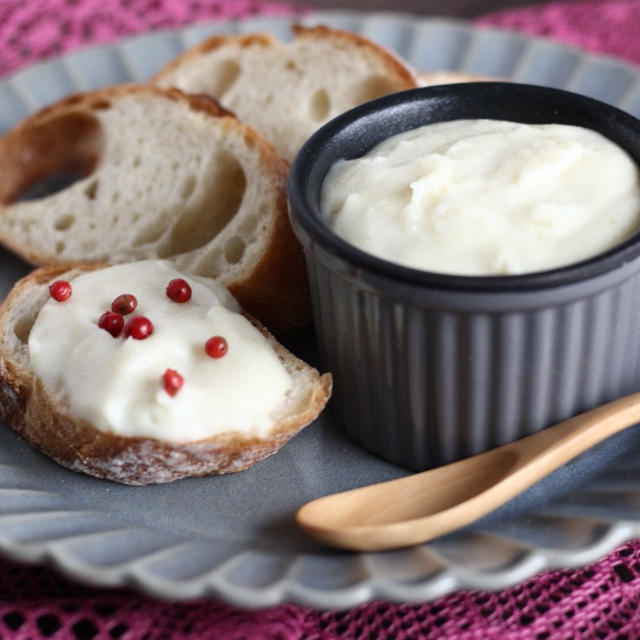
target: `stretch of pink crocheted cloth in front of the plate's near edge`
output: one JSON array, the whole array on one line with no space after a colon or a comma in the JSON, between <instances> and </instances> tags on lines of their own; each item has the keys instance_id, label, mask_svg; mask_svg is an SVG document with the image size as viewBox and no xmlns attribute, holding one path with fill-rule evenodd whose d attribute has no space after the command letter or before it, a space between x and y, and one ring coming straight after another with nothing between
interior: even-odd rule
<instances>
[{"instance_id":1,"label":"stretch of pink crocheted cloth in front of the plate's near edge","mask_svg":"<svg viewBox=\"0 0 640 640\"><path fill-rule=\"evenodd\" d=\"M0 564L0 584L0 636L16 640L640 638L640 542L586 569L545 573L497 593L459 592L423 605L374 602L342 612L158 602L8 563Z\"/></svg>"}]
</instances>

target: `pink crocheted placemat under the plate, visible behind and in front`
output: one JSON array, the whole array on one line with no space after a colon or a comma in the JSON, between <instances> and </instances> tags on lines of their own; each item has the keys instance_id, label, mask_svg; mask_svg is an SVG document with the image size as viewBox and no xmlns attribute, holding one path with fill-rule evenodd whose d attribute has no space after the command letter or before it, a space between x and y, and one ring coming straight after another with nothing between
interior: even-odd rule
<instances>
[{"instance_id":1,"label":"pink crocheted placemat under the plate, visible behind and in front","mask_svg":"<svg viewBox=\"0 0 640 640\"><path fill-rule=\"evenodd\" d=\"M295 11L261 0L0 0L0 76L84 44L149 29ZM640 2L634 0L553 3L479 22L640 64ZM423 605L376 602L342 612L168 604L126 590L89 589L49 569L0 561L4 640L636 640L639 608L638 541L585 569L547 572L497 593L460 592Z\"/></svg>"}]
</instances>

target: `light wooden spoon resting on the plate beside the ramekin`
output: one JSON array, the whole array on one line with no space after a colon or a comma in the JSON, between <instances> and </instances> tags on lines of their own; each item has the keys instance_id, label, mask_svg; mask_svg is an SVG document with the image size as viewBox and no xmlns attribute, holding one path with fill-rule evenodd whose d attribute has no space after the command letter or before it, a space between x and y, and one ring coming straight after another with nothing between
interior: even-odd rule
<instances>
[{"instance_id":1,"label":"light wooden spoon resting on the plate beside the ramekin","mask_svg":"<svg viewBox=\"0 0 640 640\"><path fill-rule=\"evenodd\" d=\"M493 511L605 438L640 422L640 392L492 451L308 502L298 525L343 549L432 540Z\"/></svg>"}]
</instances>

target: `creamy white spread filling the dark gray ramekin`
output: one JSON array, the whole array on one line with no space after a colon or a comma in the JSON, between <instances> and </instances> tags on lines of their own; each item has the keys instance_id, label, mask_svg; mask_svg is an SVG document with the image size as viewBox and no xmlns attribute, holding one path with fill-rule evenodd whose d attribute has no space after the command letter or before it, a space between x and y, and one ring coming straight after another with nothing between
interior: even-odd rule
<instances>
[{"instance_id":1,"label":"creamy white spread filling the dark gray ramekin","mask_svg":"<svg viewBox=\"0 0 640 640\"><path fill-rule=\"evenodd\" d=\"M457 120L393 136L331 168L328 225L363 251L461 275L544 271L640 227L638 168L599 133Z\"/></svg>"}]
</instances>

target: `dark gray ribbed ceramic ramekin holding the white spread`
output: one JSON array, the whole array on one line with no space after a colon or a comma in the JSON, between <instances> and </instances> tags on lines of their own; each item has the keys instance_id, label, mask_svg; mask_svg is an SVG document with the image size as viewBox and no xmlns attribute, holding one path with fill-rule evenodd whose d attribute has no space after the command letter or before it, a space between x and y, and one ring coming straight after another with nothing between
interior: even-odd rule
<instances>
[{"instance_id":1,"label":"dark gray ribbed ceramic ramekin holding the white spread","mask_svg":"<svg viewBox=\"0 0 640 640\"><path fill-rule=\"evenodd\" d=\"M329 168L396 133L461 118L574 124L640 165L640 121L542 87L477 83L393 94L316 132L290 177L332 408L368 450L424 469L505 444L640 389L640 233L567 267L452 276L369 255L322 220Z\"/></svg>"}]
</instances>

